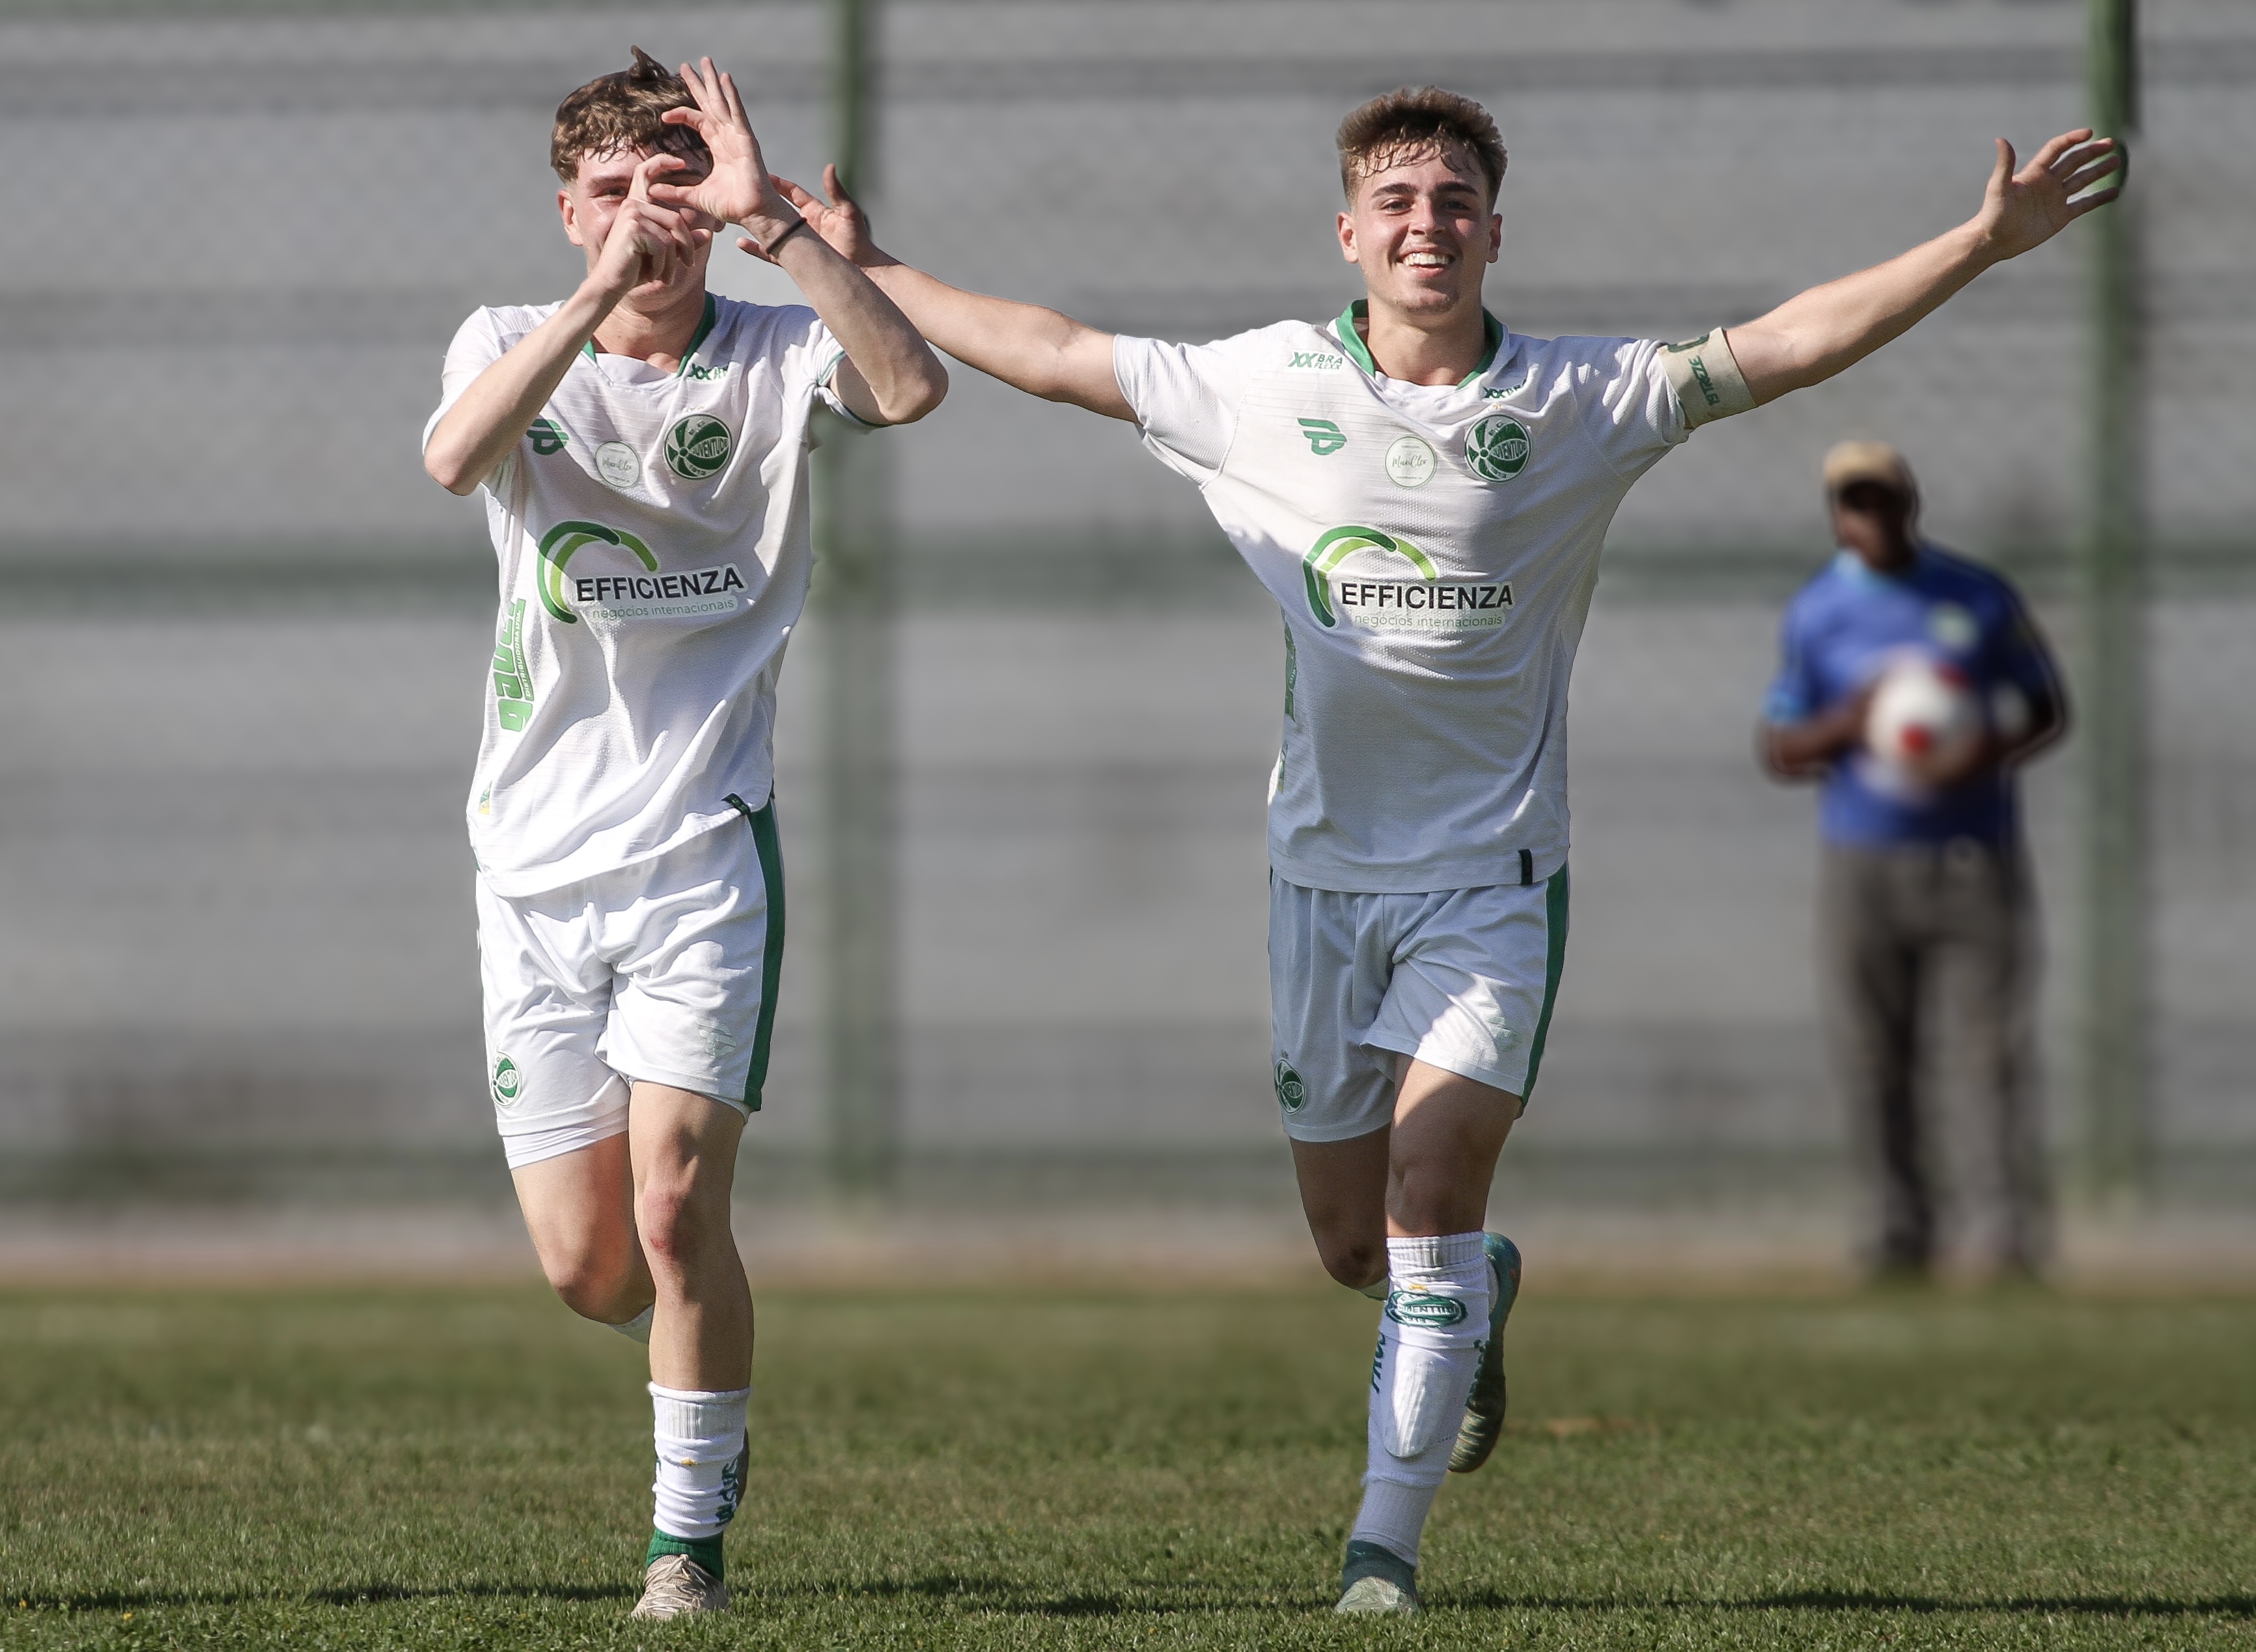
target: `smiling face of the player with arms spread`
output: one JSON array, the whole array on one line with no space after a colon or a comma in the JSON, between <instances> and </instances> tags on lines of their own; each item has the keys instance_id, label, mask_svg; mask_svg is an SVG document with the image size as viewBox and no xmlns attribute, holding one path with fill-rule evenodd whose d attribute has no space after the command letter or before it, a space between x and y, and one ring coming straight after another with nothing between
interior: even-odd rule
<instances>
[{"instance_id":1,"label":"smiling face of the player with arms spread","mask_svg":"<svg viewBox=\"0 0 2256 1652\"><path fill-rule=\"evenodd\" d=\"M1408 314L1478 305L1502 235L1480 162L1455 147L1410 151L1365 174L1340 214L1340 253L1363 266L1372 300Z\"/></svg>"}]
</instances>

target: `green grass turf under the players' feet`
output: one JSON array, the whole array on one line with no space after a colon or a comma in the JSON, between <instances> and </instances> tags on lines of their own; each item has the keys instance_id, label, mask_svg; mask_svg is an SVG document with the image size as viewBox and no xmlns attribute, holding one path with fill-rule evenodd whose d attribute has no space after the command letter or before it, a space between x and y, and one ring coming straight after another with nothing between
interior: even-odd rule
<instances>
[{"instance_id":1,"label":"green grass turf under the players' feet","mask_svg":"<svg viewBox=\"0 0 2256 1652\"><path fill-rule=\"evenodd\" d=\"M735 1611L623 1620L632 1345L535 1293L0 1298L0 1647L2256 1645L2256 1304L1530 1295L1415 1625L1327 1614L1374 1309L763 1302Z\"/></svg>"}]
</instances>

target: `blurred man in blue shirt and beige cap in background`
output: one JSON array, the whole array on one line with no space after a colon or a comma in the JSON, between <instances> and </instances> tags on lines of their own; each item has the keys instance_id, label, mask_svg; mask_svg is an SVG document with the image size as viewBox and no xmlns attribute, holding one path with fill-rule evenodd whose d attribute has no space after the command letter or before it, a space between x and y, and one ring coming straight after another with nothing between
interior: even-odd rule
<instances>
[{"instance_id":1,"label":"blurred man in blue shirt and beige cap in background","mask_svg":"<svg viewBox=\"0 0 2256 1652\"><path fill-rule=\"evenodd\" d=\"M1954 1178L1965 1246L1990 1273L2035 1273L2046 1178L2035 1095L2035 889L2015 765L2060 738L2066 695L2019 594L1918 537L1902 454L1825 456L1841 553L1787 607L1762 711L1780 779L1823 779L1821 973L1827 1036L1875 1176L1872 1264L1924 1275L1936 1196L1922 1108L1924 1034L1954 1022L1924 1072L1965 1113ZM1954 686L1963 729L1875 749L1891 673ZM1933 691L1945 693L1945 691Z\"/></svg>"}]
</instances>

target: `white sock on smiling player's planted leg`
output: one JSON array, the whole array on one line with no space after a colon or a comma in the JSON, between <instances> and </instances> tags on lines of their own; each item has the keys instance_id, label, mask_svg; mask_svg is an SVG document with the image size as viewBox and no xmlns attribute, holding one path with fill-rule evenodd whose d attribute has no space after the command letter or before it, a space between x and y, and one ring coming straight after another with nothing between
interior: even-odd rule
<instances>
[{"instance_id":1,"label":"white sock on smiling player's planted leg","mask_svg":"<svg viewBox=\"0 0 2256 1652\"><path fill-rule=\"evenodd\" d=\"M1369 1465L1349 1541L1378 1544L1412 1566L1489 1334L1493 1282L1480 1239L1478 1232L1387 1239Z\"/></svg>"}]
</instances>

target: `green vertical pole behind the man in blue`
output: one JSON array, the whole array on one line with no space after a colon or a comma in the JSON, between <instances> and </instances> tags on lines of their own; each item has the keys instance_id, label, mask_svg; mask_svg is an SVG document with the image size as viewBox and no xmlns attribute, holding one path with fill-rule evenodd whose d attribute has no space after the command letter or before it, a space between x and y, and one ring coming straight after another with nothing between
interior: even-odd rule
<instances>
[{"instance_id":1,"label":"green vertical pole behind the man in blue","mask_svg":"<svg viewBox=\"0 0 2256 1652\"><path fill-rule=\"evenodd\" d=\"M2087 93L2103 135L2139 131L2136 0L2087 0ZM2089 411L2082 609L2082 970L2078 1079L2087 1192L2148 1178L2150 937L2145 752L2145 341L2141 210L2130 192L2085 226Z\"/></svg>"}]
</instances>

